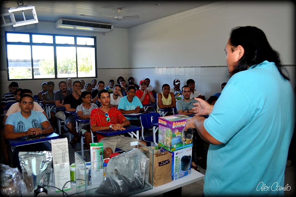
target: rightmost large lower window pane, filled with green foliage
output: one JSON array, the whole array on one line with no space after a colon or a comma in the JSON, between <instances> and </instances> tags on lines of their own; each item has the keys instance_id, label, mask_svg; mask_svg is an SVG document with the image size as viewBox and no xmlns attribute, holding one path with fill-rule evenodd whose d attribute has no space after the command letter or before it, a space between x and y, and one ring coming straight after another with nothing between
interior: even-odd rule
<instances>
[{"instance_id":1,"label":"rightmost large lower window pane, filled with green foliage","mask_svg":"<svg viewBox=\"0 0 296 197\"><path fill-rule=\"evenodd\" d=\"M78 77L95 77L94 48L77 47Z\"/></svg>"}]
</instances>

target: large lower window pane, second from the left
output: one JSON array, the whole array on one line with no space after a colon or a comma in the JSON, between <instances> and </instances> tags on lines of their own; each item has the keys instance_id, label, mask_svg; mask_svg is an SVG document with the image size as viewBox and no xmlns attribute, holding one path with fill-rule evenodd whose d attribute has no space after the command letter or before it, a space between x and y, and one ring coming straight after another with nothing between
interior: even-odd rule
<instances>
[{"instance_id":1,"label":"large lower window pane, second from the left","mask_svg":"<svg viewBox=\"0 0 296 197\"><path fill-rule=\"evenodd\" d=\"M54 78L54 47L32 46L34 78Z\"/></svg>"}]
</instances>

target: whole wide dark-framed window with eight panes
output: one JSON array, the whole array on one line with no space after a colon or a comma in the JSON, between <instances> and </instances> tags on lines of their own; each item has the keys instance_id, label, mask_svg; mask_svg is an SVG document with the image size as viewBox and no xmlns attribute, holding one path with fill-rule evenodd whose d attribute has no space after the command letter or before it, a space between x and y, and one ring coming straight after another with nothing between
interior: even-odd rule
<instances>
[{"instance_id":1,"label":"whole wide dark-framed window with eight panes","mask_svg":"<svg viewBox=\"0 0 296 197\"><path fill-rule=\"evenodd\" d=\"M8 80L97 77L96 37L5 32Z\"/></svg>"}]
</instances>

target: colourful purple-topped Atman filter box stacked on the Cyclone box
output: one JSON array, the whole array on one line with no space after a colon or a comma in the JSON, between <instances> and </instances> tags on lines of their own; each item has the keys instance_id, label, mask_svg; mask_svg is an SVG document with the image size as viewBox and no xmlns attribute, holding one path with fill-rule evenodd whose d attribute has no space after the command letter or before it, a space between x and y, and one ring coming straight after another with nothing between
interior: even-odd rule
<instances>
[{"instance_id":1,"label":"colourful purple-topped Atman filter box stacked on the Cyclone box","mask_svg":"<svg viewBox=\"0 0 296 197\"><path fill-rule=\"evenodd\" d=\"M184 131L189 116L176 114L158 118L158 146L169 151L192 146L192 129ZM189 133L188 133L189 132Z\"/></svg>"}]
</instances>

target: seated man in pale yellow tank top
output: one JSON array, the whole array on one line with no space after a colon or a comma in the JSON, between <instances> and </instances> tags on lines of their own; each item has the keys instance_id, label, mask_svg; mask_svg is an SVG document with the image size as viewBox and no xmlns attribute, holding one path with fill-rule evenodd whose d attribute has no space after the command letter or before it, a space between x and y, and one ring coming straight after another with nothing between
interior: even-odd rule
<instances>
[{"instance_id":1,"label":"seated man in pale yellow tank top","mask_svg":"<svg viewBox=\"0 0 296 197\"><path fill-rule=\"evenodd\" d=\"M170 85L166 83L163 84L161 91L161 93L157 93L157 113L159 113L158 109L176 107L176 99L174 93L170 92ZM169 114L170 113L168 113L168 115ZM170 115L173 115L173 112Z\"/></svg>"}]
</instances>

